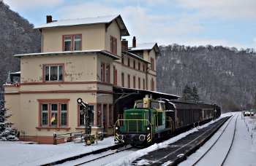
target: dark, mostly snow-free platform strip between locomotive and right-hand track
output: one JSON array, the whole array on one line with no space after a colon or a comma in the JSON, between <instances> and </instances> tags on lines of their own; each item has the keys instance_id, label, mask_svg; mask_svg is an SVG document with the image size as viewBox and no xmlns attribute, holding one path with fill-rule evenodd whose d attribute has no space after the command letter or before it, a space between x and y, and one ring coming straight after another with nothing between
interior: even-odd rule
<instances>
[{"instance_id":1,"label":"dark, mostly snow-free platform strip between locomotive and right-hand track","mask_svg":"<svg viewBox=\"0 0 256 166\"><path fill-rule=\"evenodd\" d=\"M206 143L219 128L227 122L230 117L219 119L217 122L203 127L195 133L191 133L184 138L181 138L174 143L170 143L166 148L151 151L148 154L140 157L132 162L132 165L137 165L140 161L146 160L147 165L178 165L194 153L203 143Z\"/></svg>"}]
</instances>

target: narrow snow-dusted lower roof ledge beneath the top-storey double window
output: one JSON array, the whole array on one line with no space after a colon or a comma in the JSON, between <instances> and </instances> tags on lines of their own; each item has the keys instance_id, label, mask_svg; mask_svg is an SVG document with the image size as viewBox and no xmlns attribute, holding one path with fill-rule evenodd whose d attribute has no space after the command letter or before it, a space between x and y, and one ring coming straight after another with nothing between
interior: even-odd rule
<instances>
[{"instance_id":1,"label":"narrow snow-dusted lower roof ledge beneath the top-storey double window","mask_svg":"<svg viewBox=\"0 0 256 166\"><path fill-rule=\"evenodd\" d=\"M81 54L81 53L99 53L105 56L112 58L113 60L120 60L115 55L110 54L105 50L85 50L85 51L65 51L65 52L40 52L40 53L31 53L31 54L20 54L20 55L13 55L16 58L26 57L26 56L38 56L38 55L66 55L66 54Z\"/></svg>"}]
</instances>

